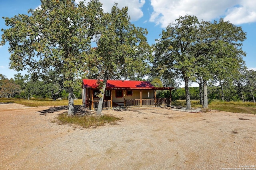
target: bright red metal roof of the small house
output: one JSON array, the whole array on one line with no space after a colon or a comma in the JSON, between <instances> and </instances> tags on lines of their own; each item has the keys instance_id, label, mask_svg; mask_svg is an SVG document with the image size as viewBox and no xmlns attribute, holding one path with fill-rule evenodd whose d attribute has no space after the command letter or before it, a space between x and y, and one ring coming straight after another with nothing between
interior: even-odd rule
<instances>
[{"instance_id":1,"label":"bright red metal roof of the small house","mask_svg":"<svg viewBox=\"0 0 256 170\"><path fill-rule=\"evenodd\" d=\"M83 79L84 88L98 88L98 80ZM103 81L103 80L101 80ZM107 80L106 89L154 89L150 82L133 80Z\"/></svg>"}]
</instances>

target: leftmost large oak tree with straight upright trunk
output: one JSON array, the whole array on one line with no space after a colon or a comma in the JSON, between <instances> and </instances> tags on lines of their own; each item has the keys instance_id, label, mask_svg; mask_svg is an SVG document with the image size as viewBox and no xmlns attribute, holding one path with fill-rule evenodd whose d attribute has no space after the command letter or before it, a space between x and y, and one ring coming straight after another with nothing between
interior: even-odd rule
<instances>
[{"instance_id":1,"label":"leftmost large oak tree with straight upright trunk","mask_svg":"<svg viewBox=\"0 0 256 170\"><path fill-rule=\"evenodd\" d=\"M5 17L0 45L9 42L10 68L28 70L32 79L53 70L69 88L69 114L74 114L74 77L84 71L91 39L96 33L102 8L98 0L87 5L74 0L41 0L41 7ZM39 77L40 78L40 77ZM41 87L40 87L41 88ZM31 89L32 90L32 89Z\"/></svg>"}]
</instances>

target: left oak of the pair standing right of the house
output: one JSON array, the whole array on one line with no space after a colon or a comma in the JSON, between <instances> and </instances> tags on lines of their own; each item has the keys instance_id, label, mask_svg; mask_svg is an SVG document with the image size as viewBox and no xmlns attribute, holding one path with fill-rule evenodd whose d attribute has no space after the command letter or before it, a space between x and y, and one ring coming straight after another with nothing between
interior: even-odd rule
<instances>
[{"instance_id":1,"label":"left oak of the pair standing right of the house","mask_svg":"<svg viewBox=\"0 0 256 170\"><path fill-rule=\"evenodd\" d=\"M184 80L187 109L191 109L188 87L195 71L196 60L192 54L200 31L198 25L199 21L195 16L180 16L175 22L169 23L154 45L154 67L165 70L168 74L175 73Z\"/></svg>"}]
</instances>

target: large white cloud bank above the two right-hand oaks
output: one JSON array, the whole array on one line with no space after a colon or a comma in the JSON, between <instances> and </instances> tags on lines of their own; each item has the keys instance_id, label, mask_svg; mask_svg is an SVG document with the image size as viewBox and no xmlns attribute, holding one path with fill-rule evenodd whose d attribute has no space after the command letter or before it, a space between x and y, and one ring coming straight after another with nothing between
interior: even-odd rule
<instances>
[{"instance_id":1,"label":"large white cloud bank above the two right-hand oaks","mask_svg":"<svg viewBox=\"0 0 256 170\"><path fill-rule=\"evenodd\" d=\"M252 0L151 0L150 21L166 27L179 16L197 16L210 21L224 18L234 24L256 21L256 1Z\"/></svg>"}]
</instances>

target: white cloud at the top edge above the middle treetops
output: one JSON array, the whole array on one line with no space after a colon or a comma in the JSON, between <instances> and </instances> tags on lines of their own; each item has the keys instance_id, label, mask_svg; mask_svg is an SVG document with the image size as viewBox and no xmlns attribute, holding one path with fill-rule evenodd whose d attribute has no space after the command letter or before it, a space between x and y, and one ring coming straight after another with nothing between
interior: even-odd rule
<instances>
[{"instance_id":1,"label":"white cloud at the top edge above the middle treetops","mask_svg":"<svg viewBox=\"0 0 256 170\"><path fill-rule=\"evenodd\" d=\"M80 0L76 0L78 3ZM86 3L89 2L86 0ZM137 21L143 16L141 10L142 6L145 4L145 0L100 0L102 3L102 9L104 12L111 12L111 8L114 6L115 2L118 3L118 8L128 7L128 15L131 21Z\"/></svg>"}]
</instances>

